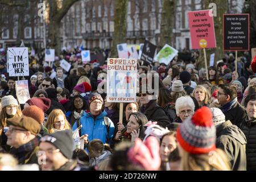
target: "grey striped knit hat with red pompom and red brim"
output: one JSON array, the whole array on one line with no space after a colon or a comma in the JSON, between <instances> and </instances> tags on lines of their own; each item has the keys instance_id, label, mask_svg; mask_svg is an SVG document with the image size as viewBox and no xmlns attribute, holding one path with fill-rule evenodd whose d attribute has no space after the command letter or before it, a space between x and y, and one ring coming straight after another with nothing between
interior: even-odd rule
<instances>
[{"instance_id":1,"label":"grey striped knit hat with red pompom and red brim","mask_svg":"<svg viewBox=\"0 0 256 182\"><path fill-rule=\"evenodd\" d=\"M201 107L178 127L177 141L189 154L207 154L216 149L216 128L208 107Z\"/></svg>"}]
</instances>

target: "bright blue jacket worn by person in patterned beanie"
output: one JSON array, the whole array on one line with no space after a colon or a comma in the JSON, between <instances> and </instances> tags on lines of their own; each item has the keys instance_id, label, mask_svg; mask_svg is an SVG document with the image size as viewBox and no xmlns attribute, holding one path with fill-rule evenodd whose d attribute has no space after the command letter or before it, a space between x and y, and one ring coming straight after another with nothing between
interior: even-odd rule
<instances>
[{"instance_id":1,"label":"bright blue jacket worn by person in patterned beanie","mask_svg":"<svg viewBox=\"0 0 256 182\"><path fill-rule=\"evenodd\" d=\"M105 126L104 117L107 115L106 111L104 110L100 115L94 119L93 115L90 113L85 113L81 117L81 134L85 135L88 134L89 142L93 139L100 139L103 143L109 143L114 135L114 123L111 121L109 126L109 134L108 130ZM76 130L77 125L76 123L73 125L72 130ZM107 141L108 138L108 141Z\"/></svg>"}]
</instances>

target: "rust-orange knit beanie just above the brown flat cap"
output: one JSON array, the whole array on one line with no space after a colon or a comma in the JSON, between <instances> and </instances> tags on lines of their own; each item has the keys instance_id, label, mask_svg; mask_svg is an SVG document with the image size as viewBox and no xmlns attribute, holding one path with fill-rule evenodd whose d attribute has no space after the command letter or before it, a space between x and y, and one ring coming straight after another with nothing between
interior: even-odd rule
<instances>
[{"instance_id":1,"label":"rust-orange knit beanie just above the brown flat cap","mask_svg":"<svg viewBox=\"0 0 256 182\"><path fill-rule=\"evenodd\" d=\"M35 119L39 124L44 122L44 112L38 106L28 106L22 110L22 114Z\"/></svg>"}]
</instances>

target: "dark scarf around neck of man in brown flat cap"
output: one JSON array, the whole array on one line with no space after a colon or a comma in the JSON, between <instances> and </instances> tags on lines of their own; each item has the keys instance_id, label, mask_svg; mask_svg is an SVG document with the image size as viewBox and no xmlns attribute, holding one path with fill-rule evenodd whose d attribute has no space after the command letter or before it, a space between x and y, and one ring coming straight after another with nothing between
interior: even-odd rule
<instances>
[{"instance_id":1,"label":"dark scarf around neck of man in brown flat cap","mask_svg":"<svg viewBox=\"0 0 256 182\"><path fill-rule=\"evenodd\" d=\"M28 143L23 144L19 148L11 148L10 153L13 154L17 159L19 164L24 163L26 158L34 151L35 147L39 144L38 138L30 140Z\"/></svg>"}]
</instances>

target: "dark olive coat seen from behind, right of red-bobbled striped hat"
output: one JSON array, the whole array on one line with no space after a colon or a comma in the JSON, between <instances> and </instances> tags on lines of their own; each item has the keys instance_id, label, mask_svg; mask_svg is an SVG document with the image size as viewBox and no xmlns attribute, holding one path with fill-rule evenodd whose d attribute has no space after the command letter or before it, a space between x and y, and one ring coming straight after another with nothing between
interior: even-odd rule
<instances>
[{"instance_id":1,"label":"dark olive coat seen from behind, right of red-bobbled striped hat","mask_svg":"<svg viewBox=\"0 0 256 182\"><path fill-rule=\"evenodd\" d=\"M221 148L228 156L233 171L246 171L247 143L242 130L230 121L216 127L216 147Z\"/></svg>"}]
</instances>

